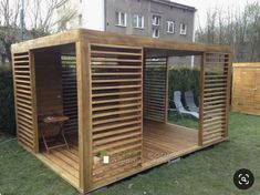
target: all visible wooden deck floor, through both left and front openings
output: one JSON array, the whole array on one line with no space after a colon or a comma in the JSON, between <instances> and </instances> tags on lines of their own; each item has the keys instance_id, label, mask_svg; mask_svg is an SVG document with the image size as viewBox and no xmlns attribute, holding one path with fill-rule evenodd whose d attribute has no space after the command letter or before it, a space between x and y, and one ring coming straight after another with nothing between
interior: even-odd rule
<instances>
[{"instance_id":1,"label":"all visible wooden deck floor, through both left and front openings","mask_svg":"<svg viewBox=\"0 0 260 195\"><path fill-rule=\"evenodd\" d=\"M153 121L144 122L143 167L160 164L170 156L189 153L198 147L196 130L189 130ZM42 152L38 157L54 172L79 187L79 153L75 138L69 141L70 150L58 148L50 154ZM162 161L163 160L163 161ZM157 162L156 162L157 161Z\"/></svg>"}]
</instances>

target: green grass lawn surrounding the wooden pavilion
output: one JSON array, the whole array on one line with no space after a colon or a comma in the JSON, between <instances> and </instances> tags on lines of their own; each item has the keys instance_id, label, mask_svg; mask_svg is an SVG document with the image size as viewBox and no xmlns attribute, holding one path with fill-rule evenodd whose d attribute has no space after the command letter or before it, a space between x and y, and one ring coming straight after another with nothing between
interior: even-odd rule
<instances>
[{"instance_id":1,"label":"green grass lawn surrounding the wooden pavilion","mask_svg":"<svg viewBox=\"0 0 260 195\"><path fill-rule=\"evenodd\" d=\"M171 121L173 119L170 119ZM196 120L180 119L187 126ZM179 121L174 121L174 123ZM178 123L180 124L180 123ZM230 141L138 174L94 195L260 195L260 117L232 113ZM73 187L23 151L13 137L0 135L0 194L77 194ZM232 183L233 173L246 167L256 182L248 191Z\"/></svg>"}]
</instances>

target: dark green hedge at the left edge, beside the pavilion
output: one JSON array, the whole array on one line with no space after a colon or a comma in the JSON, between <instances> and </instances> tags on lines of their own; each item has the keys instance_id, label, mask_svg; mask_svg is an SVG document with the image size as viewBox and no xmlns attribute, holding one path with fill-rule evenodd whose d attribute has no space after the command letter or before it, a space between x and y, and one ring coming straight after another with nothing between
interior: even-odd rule
<instances>
[{"instance_id":1,"label":"dark green hedge at the left edge, beside the pavilion","mask_svg":"<svg viewBox=\"0 0 260 195\"><path fill-rule=\"evenodd\" d=\"M12 70L0 66L0 131L15 134Z\"/></svg>"}]
</instances>

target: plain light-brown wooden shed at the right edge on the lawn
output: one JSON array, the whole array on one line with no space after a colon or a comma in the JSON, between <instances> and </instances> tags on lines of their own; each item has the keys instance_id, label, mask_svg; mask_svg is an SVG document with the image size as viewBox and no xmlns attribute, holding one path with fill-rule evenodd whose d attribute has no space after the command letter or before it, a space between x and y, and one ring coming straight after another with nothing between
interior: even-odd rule
<instances>
[{"instance_id":1,"label":"plain light-brown wooden shed at the right edge on the lawn","mask_svg":"<svg viewBox=\"0 0 260 195\"><path fill-rule=\"evenodd\" d=\"M260 115L260 63L233 63L232 69L232 111Z\"/></svg>"}]
</instances>

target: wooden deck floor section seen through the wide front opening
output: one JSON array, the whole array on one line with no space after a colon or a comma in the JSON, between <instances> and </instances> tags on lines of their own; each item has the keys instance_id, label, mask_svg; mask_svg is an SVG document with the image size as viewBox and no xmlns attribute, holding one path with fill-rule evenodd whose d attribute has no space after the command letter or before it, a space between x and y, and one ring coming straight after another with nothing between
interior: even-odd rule
<instances>
[{"instance_id":1,"label":"wooden deck floor section seen through the wide front opening","mask_svg":"<svg viewBox=\"0 0 260 195\"><path fill-rule=\"evenodd\" d=\"M197 130L153 121L144 122L143 166L198 146Z\"/></svg>"}]
</instances>

